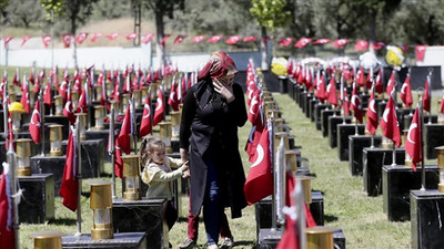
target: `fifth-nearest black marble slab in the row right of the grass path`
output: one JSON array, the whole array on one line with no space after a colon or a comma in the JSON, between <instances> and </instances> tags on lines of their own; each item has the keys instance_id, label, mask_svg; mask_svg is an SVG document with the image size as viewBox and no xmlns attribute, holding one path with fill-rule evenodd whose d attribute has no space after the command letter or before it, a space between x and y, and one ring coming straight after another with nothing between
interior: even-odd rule
<instances>
[{"instance_id":1,"label":"fifth-nearest black marble slab in the row right of the grass path","mask_svg":"<svg viewBox=\"0 0 444 249\"><path fill-rule=\"evenodd\" d=\"M349 160L349 136L364 135L364 124L339 124L337 125L337 157L340 160ZM357 132L357 134L356 134Z\"/></svg>"}]
</instances>

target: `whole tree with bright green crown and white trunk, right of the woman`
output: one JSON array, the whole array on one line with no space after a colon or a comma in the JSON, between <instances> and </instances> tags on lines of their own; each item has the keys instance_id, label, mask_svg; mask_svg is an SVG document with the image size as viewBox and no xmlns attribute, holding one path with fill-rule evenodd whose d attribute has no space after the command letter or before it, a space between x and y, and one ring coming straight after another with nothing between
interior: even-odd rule
<instances>
[{"instance_id":1,"label":"whole tree with bright green crown and white trunk, right of the woman","mask_svg":"<svg viewBox=\"0 0 444 249\"><path fill-rule=\"evenodd\" d=\"M274 31L275 28L284 27L290 22L291 13L285 10L285 0L253 0L253 7L250 13L256 19L261 27L261 51L262 69L270 69L269 51L266 43L269 41L268 30Z\"/></svg>"}]
</instances>

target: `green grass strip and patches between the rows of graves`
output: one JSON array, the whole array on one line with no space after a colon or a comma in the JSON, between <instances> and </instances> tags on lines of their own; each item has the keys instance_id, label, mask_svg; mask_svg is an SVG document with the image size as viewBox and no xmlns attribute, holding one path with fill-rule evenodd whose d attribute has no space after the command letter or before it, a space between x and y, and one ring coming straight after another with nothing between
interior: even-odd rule
<instances>
[{"instance_id":1,"label":"green grass strip and patches between the rows of graves","mask_svg":"<svg viewBox=\"0 0 444 249\"><path fill-rule=\"evenodd\" d=\"M352 177L349 163L340 162L337 151L330 148L327 139L302 113L296 103L287 95L273 94L286 124L292 128L291 135L295 144L302 146L302 156L310 162L310 172L316 175L312 180L313 190L323 193L325 226L341 228L346 239L346 248L410 248L410 221L389 222L383 214L382 196L367 197L363 190L363 178ZM434 108L436 110L436 108ZM239 131L240 152L245 174L250 168L244 145L250 133L251 124L245 124ZM158 129L154 129L157 133ZM427 162L436 164L436 162ZM105 172L111 172L111 165L105 164ZM110 180L110 178L103 178ZM83 193L89 191L88 180L83 180ZM118 179L118 196L121 196L120 179ZM181 218L170 231L170 241L176 245L186 238L188 196L182 196ZM226 209L230 217L230 211ZM61 204L56 197L56 220L44 225L20 225L20 243L23 249L32 248L29 235L40 230L57 230L69 235L75 232L75 214ZM92 211L89 198L82 197L82 232L90 234ZM202 221L202 219L201 219ZM254 206L243 211L243 217L229 219L231 230L238 246L235 248L253 248L256 245ZM205 230L203 222L199 227L199 248L205 248Z\"/></svg>"}]
</instances>

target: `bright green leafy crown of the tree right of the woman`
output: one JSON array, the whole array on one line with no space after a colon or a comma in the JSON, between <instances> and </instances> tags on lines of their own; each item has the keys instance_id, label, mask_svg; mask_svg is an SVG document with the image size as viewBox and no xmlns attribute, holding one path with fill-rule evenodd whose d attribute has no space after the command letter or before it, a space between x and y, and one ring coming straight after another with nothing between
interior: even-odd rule
<instances>
[{"instance_id":1,"label":"bright green leafy crown of the tree right of the woman","mask_svg":"<svg viewBox=\"0 0 444 249\"><path fill-rule=\"evenodd\" d=\"M285 0L253 0L250 13L258 20L259 25L273 31L289 23L291 13L285 10Z\"/></svg>"}]
</instances>

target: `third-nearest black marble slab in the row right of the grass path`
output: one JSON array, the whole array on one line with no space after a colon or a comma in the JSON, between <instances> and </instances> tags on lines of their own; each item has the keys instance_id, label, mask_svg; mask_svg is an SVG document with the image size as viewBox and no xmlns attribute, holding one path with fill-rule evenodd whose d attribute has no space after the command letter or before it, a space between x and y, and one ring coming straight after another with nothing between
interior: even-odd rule
<instances>
[{"instance_id":1,"label":"third-nearest black marble slab in the row right of the grass path","mask_svg":"<svg viewBox=\"0 0 444 249\"><path fill-rule=\"evenodd\" d=\"M382 194L382 167L392 165L393 149L370 148L363 149L363 178L364 190L369 196L379 196ZM404 165L405 149L396 148L396 165Z\"/></svg>"}]
</instances>

